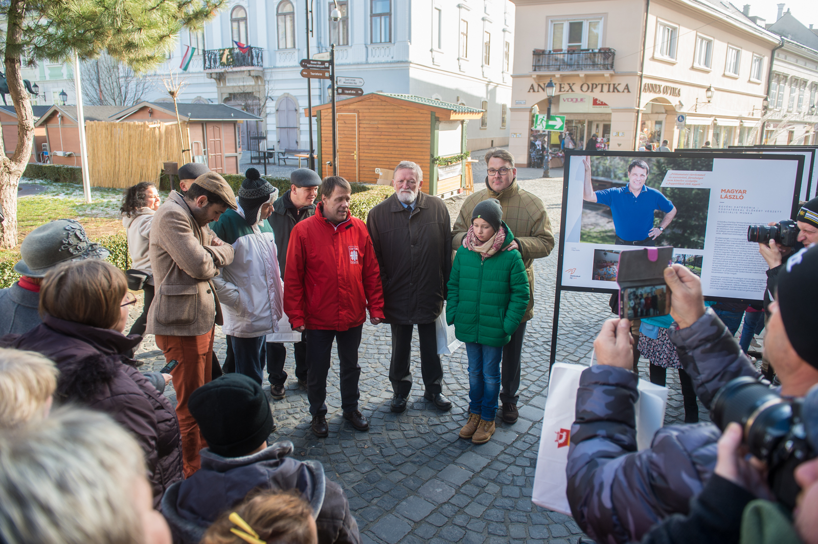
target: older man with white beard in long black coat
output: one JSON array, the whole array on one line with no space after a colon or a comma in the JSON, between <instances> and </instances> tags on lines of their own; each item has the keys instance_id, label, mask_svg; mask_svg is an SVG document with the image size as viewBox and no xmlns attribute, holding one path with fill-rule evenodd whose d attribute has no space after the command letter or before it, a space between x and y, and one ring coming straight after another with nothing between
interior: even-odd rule
<instances>
[{"instance_id":1,"label":"older man with white beard in long black coat","mask_svg":"<svg viewBox=\"0 0 818 544\"><path fill-rule=\"evenodd\" d=\"M392 183L394 194L366 216L384 286L385 322L392 329L390 408L393 412L407 409L411 337L417 325L423 396L439 410L448 410L452 403L443 395L434 320L443 311L452 269L452 221L443 200L423 192L423 171L416 163L398 163Z\"/></svg>"}]
</instances>

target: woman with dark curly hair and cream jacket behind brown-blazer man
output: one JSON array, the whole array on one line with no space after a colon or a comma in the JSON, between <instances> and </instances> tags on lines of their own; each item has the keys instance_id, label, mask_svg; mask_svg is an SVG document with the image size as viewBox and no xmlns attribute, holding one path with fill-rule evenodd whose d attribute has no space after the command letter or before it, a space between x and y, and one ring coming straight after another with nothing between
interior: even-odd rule
<instances>
[{"instance_id":1,"label":"woman with dark curly hair and cream jacket behind brown-blazer man","mask_svg":"<svg viewBox=\"0 0 818 544\"><path fill-rule=\"evenodd\" d=\"M151 181L142 181L125 190L122 206L119 207L119 212L123 216L122 225L128 236L128 252L131 254L131 270L126 273L128 284L134 291L141 288L144 293L142 314L133 322L128 334L145 333L148 310L155 294L148 247L151 243L151 222L154 212L159 209L161 203L162 199L156 185Z\"/></svg>"}]
</instances>

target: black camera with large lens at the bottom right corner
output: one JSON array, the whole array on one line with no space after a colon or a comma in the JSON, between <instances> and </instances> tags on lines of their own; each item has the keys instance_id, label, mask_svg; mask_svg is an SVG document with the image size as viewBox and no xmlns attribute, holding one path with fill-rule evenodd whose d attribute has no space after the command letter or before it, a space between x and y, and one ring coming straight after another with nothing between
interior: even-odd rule
<instances>
[{"instance_id":1,"label":"black camera with large lens at the bottom right corner","mask_svg":"<svg viewBox=\"0 0 818 544\"><path fill-rule=\"evenodd\" d=\"M730 421L744 428L744 444L754 457L766 462L767 484L790 510L801 488L793 470L816 457L807 442L801 417L802 399L783 399L752 377L737 377L713 399L711 417L719 429Z\"/></svg>"}]
</instances>

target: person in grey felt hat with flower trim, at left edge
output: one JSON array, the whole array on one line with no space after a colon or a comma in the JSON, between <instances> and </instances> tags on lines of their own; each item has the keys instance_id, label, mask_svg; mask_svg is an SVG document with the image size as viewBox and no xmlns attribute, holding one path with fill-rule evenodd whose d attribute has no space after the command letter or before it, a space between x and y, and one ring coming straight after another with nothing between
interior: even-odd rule
<instances>
[{"instance_id":1,"label":"person in grey felt hat with flower trim, at left edge","mask_svg":"<svg viewBox=\"0 0 818 544\"><path fill-rule=\"evenodd\" d=\"M65 261L105 259L105 247L91 242L83 225L73 219L58 219L32 230L20 244L22 259L14 265L20 279L10 288L0 289L0 336L22 334L37 327L40 283L48 270Z\"/></svg>"}]
</instances>

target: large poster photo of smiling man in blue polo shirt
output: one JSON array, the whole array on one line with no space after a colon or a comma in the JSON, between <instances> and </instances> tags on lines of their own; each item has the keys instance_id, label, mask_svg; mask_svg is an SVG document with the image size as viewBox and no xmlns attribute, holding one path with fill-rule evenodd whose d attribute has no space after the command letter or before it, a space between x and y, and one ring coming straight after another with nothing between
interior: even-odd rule
<instances>
[{"instance_id":1,"label":"large poster photo of smiling man in blue polo shirt","mask_svg":"<svg viewBox=\"0 0 818 544\"><path fill-rule=\"evenodd\" d=\"M581 243L704 248L710 190L662 185L668 172L711 172L712 158L581 160L585 173Z\"/></svg>"}]
</instances>

